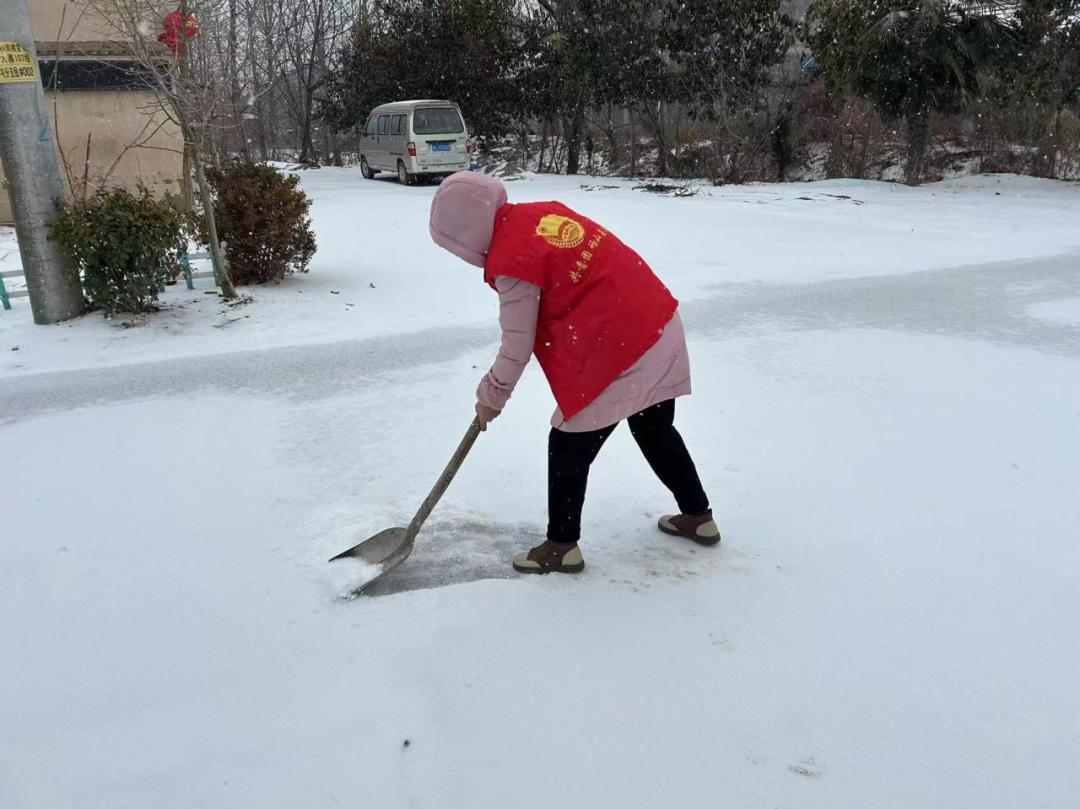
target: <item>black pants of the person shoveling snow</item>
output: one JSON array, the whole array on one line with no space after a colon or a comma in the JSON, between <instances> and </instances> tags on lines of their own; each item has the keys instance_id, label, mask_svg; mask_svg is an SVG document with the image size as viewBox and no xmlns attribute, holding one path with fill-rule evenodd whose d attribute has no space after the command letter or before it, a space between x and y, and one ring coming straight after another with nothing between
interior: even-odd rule
<instances>
[{"instance_id":1,"label":"black pants of the person shoveling snow","mask_svg":"<svg viewBox=\"0 0 1080 809\"><path fill-rule=\"evenodd\" d=\"M708 509L698 470L675 429L675 400L647 407L627 422L652 471L675 495L679 511L700 514ZM577 542L581 538L581 507L585 502L589 468L615 428L612 424L583 433L551 431L548 440L548 539L551 541Z\"/></svg>"}]
</instances>

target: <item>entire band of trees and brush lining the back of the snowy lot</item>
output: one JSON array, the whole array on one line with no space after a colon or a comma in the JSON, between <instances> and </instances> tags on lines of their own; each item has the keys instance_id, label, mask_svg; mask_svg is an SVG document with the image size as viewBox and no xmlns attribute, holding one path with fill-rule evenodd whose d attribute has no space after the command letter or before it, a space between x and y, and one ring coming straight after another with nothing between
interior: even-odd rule
<instances>
[{"instance_id":1,"label":"entire band of trees and brush lining the back of the snowy lot","mask_svg":"<svg viewBox=\"0 0 1080 809\"><path fill-rule=\"evenodd\" d=\"M138 6L125 25L153 23L153 44L179 0L89 2ZM340 163L374 106L441 97L539 171L772 179L850 148L831 134L847 117L859 159L835 171L887 160L918 183L968 137L995 168L1080 174L1080 0L813 0L801 25L781 0L179 4L211 165Z\"/></svg>"}]
</instances>

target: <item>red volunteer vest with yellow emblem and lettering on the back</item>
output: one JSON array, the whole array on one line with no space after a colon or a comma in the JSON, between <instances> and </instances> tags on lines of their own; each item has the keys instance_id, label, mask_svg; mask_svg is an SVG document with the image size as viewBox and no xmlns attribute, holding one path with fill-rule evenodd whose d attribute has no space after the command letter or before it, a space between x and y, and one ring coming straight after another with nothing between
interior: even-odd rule
<instances>
[{"instance_id":1,"label":"red volunteer vest with yellow emblem and lettering on the back","mask_svg":"<svg viewBox=\"0 0 1080 809\"><path fill-rule=\"evenodd\" d=\"M571 419L660 339L672 297L640 256L558 202L507 204L496 215L484 280L540 287L532 348Z\"/></svg>"}]
</instances>

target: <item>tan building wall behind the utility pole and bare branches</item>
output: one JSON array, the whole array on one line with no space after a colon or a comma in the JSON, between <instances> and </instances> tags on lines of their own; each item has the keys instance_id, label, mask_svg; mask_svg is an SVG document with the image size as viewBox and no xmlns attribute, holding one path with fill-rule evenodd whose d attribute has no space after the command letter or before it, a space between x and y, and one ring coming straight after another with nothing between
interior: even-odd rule
<instances>
[{"instance_id":1,"label":"tan building wall behind the utility pole and bare branches","mask_svg":"<svg viewBox=\"0 0 1080 809\"><path fill-rule=\"evenodd\" d=\"M96 23L71 0L31 0L30 22L35 39L42 43L116 39L114 32ZM66 161L76 177L82 178L89 135L92 188L102 184L130 188L143 184L158 192L179 191L181 138L172 122L166 121L158 129L165 117L153 93L62 91L45 93L45 104L63 153L62 174ZM120 161L113 167L117 158ZM0 186L5 188L2 165ZM11 203L4 190L0 192L0 223L10 221Z\"/></svg>"}]
</instances>

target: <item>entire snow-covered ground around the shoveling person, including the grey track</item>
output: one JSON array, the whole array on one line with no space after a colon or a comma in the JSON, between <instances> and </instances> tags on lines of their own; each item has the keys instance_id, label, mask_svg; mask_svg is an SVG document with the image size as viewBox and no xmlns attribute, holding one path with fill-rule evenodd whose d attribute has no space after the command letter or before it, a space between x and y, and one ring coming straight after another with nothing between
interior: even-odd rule
<instances>
[{"instance_id":1,"label":"entire snow-covered ground around the shoveling person, including the grey track","mask_svg":"<svg viewBox=\"0 0 1080 809\"><path fill-rule=\"evenodd\" d=\"M325 559L427 494L496 300L433 189L303 183L312 272L254 304L0 312L0 807L1077 806L1080 187L512 184L681 299L725 542L656 531L620 430L585 572L515 578L534 368L345 601Z\"/></svg>"}]
</instances>

